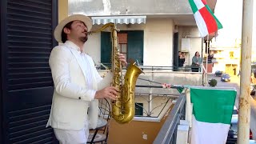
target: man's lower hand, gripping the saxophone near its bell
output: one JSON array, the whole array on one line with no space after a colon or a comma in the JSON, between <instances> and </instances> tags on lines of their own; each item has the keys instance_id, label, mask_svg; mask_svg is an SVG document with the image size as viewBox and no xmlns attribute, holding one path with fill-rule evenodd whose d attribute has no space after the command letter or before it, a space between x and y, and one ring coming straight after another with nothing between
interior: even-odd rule
<instances>
[{"instance_id":1,"label":"man's lower hand, gripping the saxophone near its bell","mask_svg":"<svg viewBox=\"0 0 256 144\"><path fill-rule=\"evenodd\" d=\"M95 99L110 98L111 100L117 100L118 89L114 86L106 87L102 90L96 91Z\"/></svg>"}]
</instances>

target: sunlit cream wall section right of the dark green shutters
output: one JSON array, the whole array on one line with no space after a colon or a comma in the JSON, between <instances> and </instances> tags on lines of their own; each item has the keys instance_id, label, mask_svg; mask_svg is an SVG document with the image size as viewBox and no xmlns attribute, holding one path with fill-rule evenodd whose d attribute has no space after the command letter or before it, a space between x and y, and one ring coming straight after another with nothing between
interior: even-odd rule
<instances>
[{"instance_id":1,"label":"sunlit cream wall section right of the dark green shutters","mask_svg":"<svg viewBox=\"0 0 256 144\"><path fill-rule=\"evenodd\" d=\"M170 18L148 19L144 34L145 66L173 66L173 30Z\"/></svg>"}]
</instances>

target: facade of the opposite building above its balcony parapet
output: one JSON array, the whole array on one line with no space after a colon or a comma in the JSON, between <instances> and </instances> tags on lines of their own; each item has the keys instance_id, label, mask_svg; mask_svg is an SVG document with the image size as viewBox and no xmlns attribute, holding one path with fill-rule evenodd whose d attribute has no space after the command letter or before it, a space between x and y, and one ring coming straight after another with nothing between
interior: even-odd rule
<instances>
[{"instance_id":1,"label":"facade of the opposite building above its balcony parapet","mask_svg":"<svg viewBox=\"0 0 256 144\"><path fill-rule=\"evenodd\" d=\"M216 1L208 3L214 9ZM86 14L93 19L93 30L106 22L116 23L120 50L144 66L178 66L178 51L186 55L184 66L191 65L196 51L202 53L202 38L190 10L181 1L68 1L68 15ZM122 37L122 38L120 38ZM190 39L182 45L182 38ZM182 47L182 46L186 46ZM85 50L96 64L110 62L110 34L93 34Z\"/></svg>"}]
</instances>

